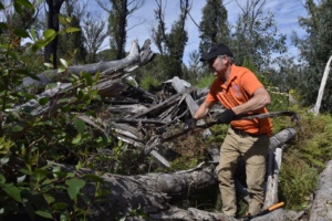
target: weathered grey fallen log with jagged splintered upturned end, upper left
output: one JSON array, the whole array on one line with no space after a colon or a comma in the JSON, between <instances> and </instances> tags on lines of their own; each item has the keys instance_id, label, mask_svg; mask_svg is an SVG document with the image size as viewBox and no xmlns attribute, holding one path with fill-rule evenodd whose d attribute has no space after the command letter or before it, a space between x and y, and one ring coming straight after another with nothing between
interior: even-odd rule
<instances>
[{"instance_id":1,"label":"weathered grey fallen log with jagged splintered upturned end, upper left","mask_svg":"<svg viewBox=\"0 0 332 221\"><path fill-rule=\"evenodd\" d=\"M93 86L93 90L97 90L102 96L116 96L124 90L124 86L121 82L122 78L128 76L128 72L145 65L154 59L155 53L152 52L149 45L151 41L146 40L142 49L139 49L138 42L134 41L129 54L123 60L70 66L69 73L79 75L81 72L85 72L94 75L95 73L100 72L100 81L95 86ZM42 87L56 81L63 81L66 74L68 73L58 73L56 70L46 71L44 73L38 74L39 80L34 80L31 77L23 78L21 87ZM25 119L38 116L50 117L54 113L56 113L59 108L68 105L68 103L70 103L71 101L74 101L77 88L83 87L84 85L82 84L72 86L72 84L70 83L56 82L56 86L46 88L41 94L35 95L35 98L30 99L24 104L14 106L12 109L10 109L10 112L17 117L24 115ZM139 92L142 93L142 90ZM148 93L142 94L148 96L149 98L155 98ZM45 97L49 98L49 102L41 105L40 101ZM64 98L66 99L66 102L63 102ZM75 103L72 103L71 105L75 106ZM23 128L25 127L24 123L20 124ZM13 139L17 139L23 134L24 130L20 133L12 133L10 136Z\"/></svg>"}]
</instances>

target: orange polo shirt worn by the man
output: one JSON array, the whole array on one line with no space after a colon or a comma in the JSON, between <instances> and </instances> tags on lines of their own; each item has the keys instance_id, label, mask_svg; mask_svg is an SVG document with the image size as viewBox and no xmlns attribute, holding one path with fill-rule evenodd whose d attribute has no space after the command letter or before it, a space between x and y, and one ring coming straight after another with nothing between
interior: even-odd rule
<instances>
[{"instance_id":1,"label":"orange polo shirt worn by the man","mask_svg":"<svg viewBox=\"0 0 332 221\"><path fill-rule=\"evenodd\" d=\"M231 66L228 83L220 78L216 78L212 82L206 102L220 102L225 108L230 109L248 102L252 97L253 92L262 86L263 85L250 70L234 64ZM268 109L263 107L248 114L261 113L268 113ZM272 123L270 118L237 119L232 120L230 124L235 128L245 130L249 134L268 134L271 136L272 133Z\"/></svg>"}]
</instances>

